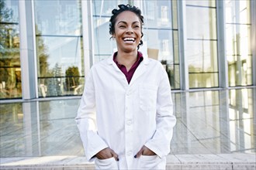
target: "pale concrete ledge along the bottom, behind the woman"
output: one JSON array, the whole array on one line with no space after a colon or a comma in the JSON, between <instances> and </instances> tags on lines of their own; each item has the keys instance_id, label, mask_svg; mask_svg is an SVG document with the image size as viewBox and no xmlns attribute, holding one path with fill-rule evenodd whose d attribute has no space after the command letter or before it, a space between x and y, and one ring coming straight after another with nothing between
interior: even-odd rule
<instances>
[{"instance_id":1,"label":"pale concrete ledge along the bottom, behind the woman","mask_svg":"<svg viewBox=\"0 0 256 170\"><path fill-rule=\"evenodd\" d=\"M85 157L46 156L0 158L0 169L95 169ZM167 169L256 169L255 154L168 155Z\"/></svg>"}]
</instances>

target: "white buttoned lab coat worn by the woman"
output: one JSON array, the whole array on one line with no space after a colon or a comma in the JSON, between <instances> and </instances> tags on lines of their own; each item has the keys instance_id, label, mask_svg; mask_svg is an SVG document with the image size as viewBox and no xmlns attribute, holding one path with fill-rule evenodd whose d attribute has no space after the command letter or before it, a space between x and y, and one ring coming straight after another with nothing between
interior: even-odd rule
<instances>
[{"instance_id":1,"label":"white buttoned lab coat worn by the woman","mask_svg":"<svg viewBox=\"0 0 256 170\"><path fill-rule=\"evenodd\" d=\"M96 63L75 121L86 158L95 161L96 169L165 169L176 119L164 67L144 57L129 84L112 56ZM157 155L134 158L144 145ZM118 162L94 157L107 147Z\"/></svg>"}]
</instances>

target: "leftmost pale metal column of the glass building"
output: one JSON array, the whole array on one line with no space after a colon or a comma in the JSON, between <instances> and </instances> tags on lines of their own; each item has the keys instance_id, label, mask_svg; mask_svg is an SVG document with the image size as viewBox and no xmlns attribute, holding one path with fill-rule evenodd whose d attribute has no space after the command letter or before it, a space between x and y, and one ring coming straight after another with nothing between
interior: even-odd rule
<instances>
[{"instance_id":1,"label":"leftmost pale metal column of the glass building","mask_svg":"<svg viewBox=\"0 0 256 170\"><path fill-rule=\"evenodd\" d=\"M32 1L19 1L19 36L22 99L30 100L36 98L37 89Z\"/></svg>"}]
</instances>

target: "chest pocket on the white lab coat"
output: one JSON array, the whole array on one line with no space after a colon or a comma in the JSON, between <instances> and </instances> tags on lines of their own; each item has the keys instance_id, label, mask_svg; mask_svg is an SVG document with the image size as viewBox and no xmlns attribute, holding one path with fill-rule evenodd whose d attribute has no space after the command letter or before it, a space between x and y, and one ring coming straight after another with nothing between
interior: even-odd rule
<instances>
[{"instance_id":1,"label":"chest pocket on the white lab coat","mask_svg":"<svg viewBox=\"0 0 256 170\"><path fill-rule=\"evenodd\" d=\"M157 107L157 86L140 86L140 109L144 111L156 110Z\"/></svg>"}]
</instances>

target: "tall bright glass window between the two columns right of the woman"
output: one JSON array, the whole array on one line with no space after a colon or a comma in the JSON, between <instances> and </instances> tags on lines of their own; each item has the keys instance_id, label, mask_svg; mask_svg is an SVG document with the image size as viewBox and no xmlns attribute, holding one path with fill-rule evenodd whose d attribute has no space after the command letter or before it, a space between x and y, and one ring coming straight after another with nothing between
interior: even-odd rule
<instances>
[{"instance_id":1,"label":"tall bright glass window between the two columns right of the woman","mask_svg":"<svg viewBox=\"0 0 256 170\"><path fill-rule=\"evenodd\" d=\"M213 4L215 1L186 1L189 88L219 87Z\"/></svg>"}]
</instances>

